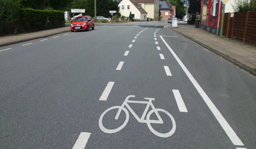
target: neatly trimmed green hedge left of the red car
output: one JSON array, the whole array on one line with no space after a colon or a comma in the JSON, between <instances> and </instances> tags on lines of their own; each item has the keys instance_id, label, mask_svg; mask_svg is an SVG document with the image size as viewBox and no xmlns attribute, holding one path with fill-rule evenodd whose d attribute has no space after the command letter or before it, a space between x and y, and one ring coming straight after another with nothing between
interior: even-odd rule
<instances>
[{"instance_id":1,"label":"neatly trimmed green hedge left of the red car","mask_svg":"<svg viewBox=\"0 0 256 149\"><path fill-rule=\"evenodd\" d=\"M65 20L63 11L21 9L21 21L27 29L46 27L49 22L56 23L57 20Z\"/></svg>"}]
</instances>

